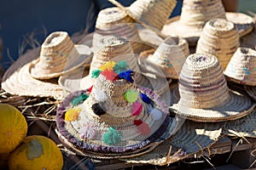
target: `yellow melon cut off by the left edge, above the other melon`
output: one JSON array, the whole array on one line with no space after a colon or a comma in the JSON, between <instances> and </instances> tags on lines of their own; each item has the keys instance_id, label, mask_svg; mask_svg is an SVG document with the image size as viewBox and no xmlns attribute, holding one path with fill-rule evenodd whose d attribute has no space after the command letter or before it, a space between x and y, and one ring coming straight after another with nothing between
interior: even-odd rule
<instances>
[{"instance_id":1,"label":"yellow melon cut off by the left edge, above the other melon","mask_svg":"<svg viewBox=\"0 0 256 170\"><path fill-rule=\"evenodd\" d=\"M0 153L10 152L26 137L25 117L14 106L0 104Z\"/></svg>"}]
</instances>

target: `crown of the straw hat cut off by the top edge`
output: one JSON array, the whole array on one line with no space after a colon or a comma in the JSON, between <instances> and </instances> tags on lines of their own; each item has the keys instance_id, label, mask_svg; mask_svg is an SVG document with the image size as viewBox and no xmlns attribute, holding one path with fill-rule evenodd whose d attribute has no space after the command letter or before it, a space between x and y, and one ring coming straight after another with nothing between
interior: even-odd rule
<instances>
[{"instance_id":1,"label":"crown of the straw hat cut off by the top edge","mask_svg":"<svg viewBox=\"0 0 256 170\"><path fill-rule=\"evenodd\" d=\"M184 0L180 21L184 25L203 28L208 20L226 19L221 0Z\"/></svg>"}]
</instances>

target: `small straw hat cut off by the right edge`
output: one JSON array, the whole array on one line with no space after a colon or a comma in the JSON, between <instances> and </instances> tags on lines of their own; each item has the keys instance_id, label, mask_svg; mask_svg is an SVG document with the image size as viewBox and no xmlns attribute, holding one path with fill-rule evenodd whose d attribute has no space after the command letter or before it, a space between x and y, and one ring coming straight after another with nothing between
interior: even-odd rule
<instances>
[{"instance_id":1,"label":"small straw hat cut off by the right edge","mask_svg":"<svg viewBox=\"0 0 256 170\"><path fill-rule=\"evenodd\" d=\"M252 48L237 48L224 75L230 81L256 86L256 51Z\"/></svg>"}]
</instances>

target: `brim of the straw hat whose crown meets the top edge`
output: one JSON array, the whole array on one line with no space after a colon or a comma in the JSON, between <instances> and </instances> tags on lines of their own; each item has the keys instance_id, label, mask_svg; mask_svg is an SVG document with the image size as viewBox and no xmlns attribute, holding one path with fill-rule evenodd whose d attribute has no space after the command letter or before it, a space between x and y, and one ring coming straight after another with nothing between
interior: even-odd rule
<instances>
[{"instance_id":1,"label":"brim of the straw hat whose crown meets the top edge","mask_svg":"<svg viewBox=\"0 0 256 170\"><path fill-rule=\"evenodd\" d=\"M234 23L240 37L247 35L253 30L255 24L253 18L247 14L241 13L226 13L227 20ZM184 26L180 22L180 16L173 17L167 20L162 32L166 35L176 34L178 37L183 37L189 42L189 46L195 46L201 36L202 28L195 26Z\"/></svg>"}]
</instances>

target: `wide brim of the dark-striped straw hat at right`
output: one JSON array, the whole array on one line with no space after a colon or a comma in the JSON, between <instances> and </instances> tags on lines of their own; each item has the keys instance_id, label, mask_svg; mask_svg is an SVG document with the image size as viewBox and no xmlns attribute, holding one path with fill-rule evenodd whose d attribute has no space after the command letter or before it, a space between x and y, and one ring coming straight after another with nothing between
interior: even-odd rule
<instances>
[{"instance_id":1,"label":"wide brim of the dark-striped straw hat at right","mask_svg":"<svg viewBox=\"0 0 256 170\"><path fill-rule=\"evenodd\" d=\"M177 84L171 87L170 110L195 122L224 122L247 116L253 111L255 103L247 96L237 91L230 90L230 99L224 105L211 109L195 109L179 105L180 99Z\"/></svg>"}]
</instances>

